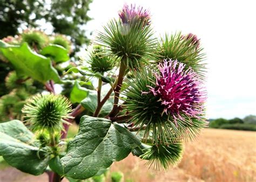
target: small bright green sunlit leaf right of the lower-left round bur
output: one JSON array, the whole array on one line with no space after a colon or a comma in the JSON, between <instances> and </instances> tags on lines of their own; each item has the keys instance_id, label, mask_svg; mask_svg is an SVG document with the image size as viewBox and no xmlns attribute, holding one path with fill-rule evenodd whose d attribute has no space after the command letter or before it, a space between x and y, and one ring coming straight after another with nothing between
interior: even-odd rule
<instances>
[{"instance_id":1,"label":"small bright green sunlit leaf right of the lower-left round bur","mask_svg":"<svg viewBox=\"0 0 256 182\"><path fill-rule=\"evenodd\" d=\"M70 93L70 101L72 103L80 103L90 92L91 90L81 87L78 81L75 81L75 85L73 86Z\"/></svg>"}]
</instances>

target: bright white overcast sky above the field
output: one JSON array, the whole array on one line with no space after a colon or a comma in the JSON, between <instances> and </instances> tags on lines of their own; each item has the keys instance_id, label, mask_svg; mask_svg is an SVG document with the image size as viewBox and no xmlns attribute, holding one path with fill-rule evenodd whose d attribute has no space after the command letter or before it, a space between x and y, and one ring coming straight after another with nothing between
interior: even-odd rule
<instances>
[{"instance_id":1,"label":"bright white overcast sky above the field","mask_svg":"<svg viewBox=\"0 0 256 182\"><path fill-rule=\"evenodd\" d=\"M93 0L86 29L102 29L124 3L149 9L157 34L182 31L201 39L207 54L207 117L256 115L255 1Z\"/></svg>"}]
</instances>

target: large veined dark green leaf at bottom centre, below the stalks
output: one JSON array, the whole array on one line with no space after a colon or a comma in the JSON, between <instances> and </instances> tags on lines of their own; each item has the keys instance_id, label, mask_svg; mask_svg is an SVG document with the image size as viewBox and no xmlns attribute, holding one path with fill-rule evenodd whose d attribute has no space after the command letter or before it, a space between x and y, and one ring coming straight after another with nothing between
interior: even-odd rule
<instances>
[{"instance_id":1,"label":"large veined dark green leaf at bottom centre, below the stalks","mask_svg":"<svg viewBox=\"0 0 256 182\"><path fill-rule=\"evenodd\" d=\"M77 136L60 160L66 176L86 179L124 159L140 144L129 130L110 120L83 116Z\"/></svg>"}]
</instances>

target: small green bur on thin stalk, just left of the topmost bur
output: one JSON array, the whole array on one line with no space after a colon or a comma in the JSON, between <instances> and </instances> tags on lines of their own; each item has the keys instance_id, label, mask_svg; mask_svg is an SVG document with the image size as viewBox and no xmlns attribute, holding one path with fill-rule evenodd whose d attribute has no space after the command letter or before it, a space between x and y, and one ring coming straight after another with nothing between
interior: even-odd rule
<instances>
[{"instance_id":1,"label":"small green bur on thin stalk, just left of the topmost bur","mask_svg":"<svg viewBox=\"0 0 256 182\"><path fill-rule=\"evenodd\" d=\"M104 48L102 46L93 46L90 50L87 64L89 64L92 73L105 73L111 71L116 65L116 61L109 56L103 54Z\"/></svg>"}]
</instances>

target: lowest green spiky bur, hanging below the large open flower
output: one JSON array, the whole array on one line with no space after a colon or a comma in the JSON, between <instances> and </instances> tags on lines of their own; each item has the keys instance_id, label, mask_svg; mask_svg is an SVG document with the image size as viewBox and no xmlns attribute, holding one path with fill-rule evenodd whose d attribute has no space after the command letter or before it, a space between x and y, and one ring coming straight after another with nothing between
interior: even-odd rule
<instances>
[{"instance_id":1,"label":"lowest green spiky bur, hanging below the large open flower","mask_svg":"<svg viewBox=\"0 0 256 182\"><path fill-rule=\"evenodd\" d=\"M181 142L161 145L152 145L140 156L142 159L149 160L146 164L155 169L169 169L170 166L177 165L183 155L183 144Z\"/></svg>"}]
</instances>

